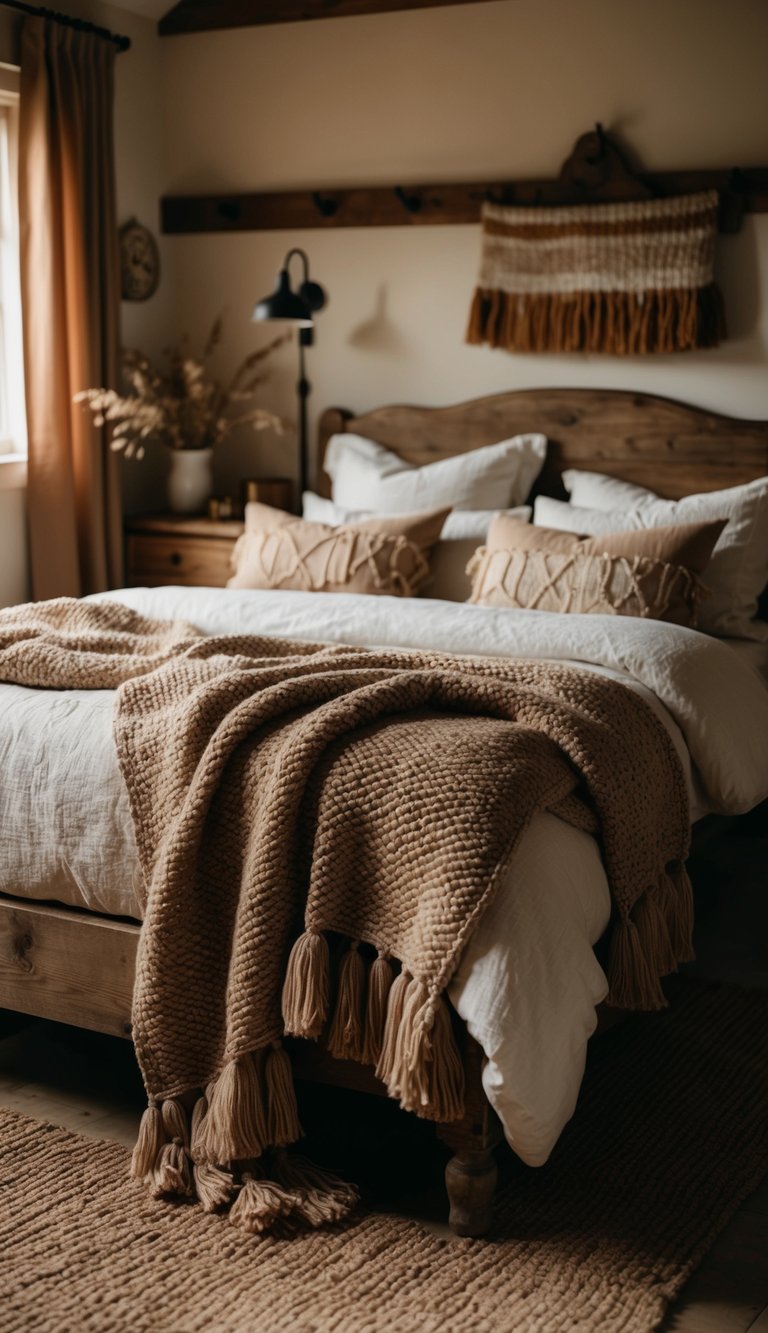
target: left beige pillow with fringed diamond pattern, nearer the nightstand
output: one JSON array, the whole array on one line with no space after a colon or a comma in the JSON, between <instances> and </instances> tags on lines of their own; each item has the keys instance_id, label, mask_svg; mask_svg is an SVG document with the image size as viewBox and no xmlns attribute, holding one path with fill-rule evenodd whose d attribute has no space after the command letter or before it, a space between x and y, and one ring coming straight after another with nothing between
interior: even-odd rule
<instances>
[{"instance_id":1,"label":"left beige pillow with fringed diamond pattern, nearer the nightstand","mask_svg":"<svg viewBox=\"0 0 768 1333\"><path fill-rule=\"evenodd\" d=\"M289 588L412 597L449 509L365 519L331 528L265 504L245 507L228 588Z\"/></svg>"}]
</instances>

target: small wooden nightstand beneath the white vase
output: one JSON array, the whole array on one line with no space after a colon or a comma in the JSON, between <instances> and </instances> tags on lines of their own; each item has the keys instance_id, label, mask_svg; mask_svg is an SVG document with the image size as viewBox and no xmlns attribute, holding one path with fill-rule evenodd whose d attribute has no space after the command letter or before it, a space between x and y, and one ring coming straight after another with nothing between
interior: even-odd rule
<instances>
[{"instance_id":1,"label":"small wooden nightstand beneath the white vase","mask_svg":"<svg viewBox=\"0 0 768 1333\"><path fill-rule=\"evenodd\" d=\"M125 523L125 585L223 588L243 524L236 519L181 519L173 513Z\"/></svg>"}]
</instances>

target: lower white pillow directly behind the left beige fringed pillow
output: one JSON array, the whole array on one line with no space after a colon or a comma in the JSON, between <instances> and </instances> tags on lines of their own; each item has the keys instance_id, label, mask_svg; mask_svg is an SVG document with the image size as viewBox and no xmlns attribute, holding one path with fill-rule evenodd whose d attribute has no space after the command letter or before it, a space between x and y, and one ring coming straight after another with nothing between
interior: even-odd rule
<instances>
[{"instance_id":1,"label":"lower white pillow directly behind the left beige fringed pillow","mask_svg":"<svg viewBox=\"0 0 768 1333\"><path fill-rule=\"evenodd\" d=\"M503 509L512 519L528 523L531 519L529 505L519 505L515 509ZM301 513L312 523L327 523L333 528L343 523L360 523L369 519L371 512L361 509L344 509L333 500L325 500L305 491L301 496ZM499 513L497 509L460 509L449 513L443 524L440 541L429 553L429 581L421 592L428 597L440 597L443 601L467 601L472 592L472 580L467 575L467 565L472 560L477 547L488 539L491 520ZM381 516L380 516L381 517Z\"/></svg>"}]
</instances>

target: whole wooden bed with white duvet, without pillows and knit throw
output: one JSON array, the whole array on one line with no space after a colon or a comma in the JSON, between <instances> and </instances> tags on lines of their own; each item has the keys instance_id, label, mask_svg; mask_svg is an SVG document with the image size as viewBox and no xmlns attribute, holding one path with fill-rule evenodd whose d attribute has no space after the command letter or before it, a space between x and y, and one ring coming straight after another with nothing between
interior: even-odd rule
<instances>
[{"instance_id":1,"label":"whole wooden bed with white duvet, without pillows and knit throw","mask_svg":"<svg viewBox=\"0 0 768 1333\"><path fill-rule=\"evenodd\" d=\"M436 409L388 407L364 416L331 409L320 423L320 489L329 493L323 460L333 435L356 432L421 465L535 431L548 439L536 489L555 499L565 495L567 468L647 485L668 499L768 473L768 423L628 392L519 391ZM191 620L208 633L257 625L259 633L291 639L407 649L427 643L451 653L575 661L629 684L664 720L700 828L768 794L764 644L724 644L628 617L607 627L605 617L541 619L432 599L197 588L108 596L144 615ZM656 660L672 663L668 678ZM111 708L109 692L89 692L87 702L69 692L51 712L39 692L0 686L0 1005L129 1037L141 886L111 754ZM56 752L51 736L57 737ZM32 780L15 768L24 750ZM23 810L8 804L16 780L27 793ZM72 818L79 785L87 798ZM447 1168L451 1225L471 1236L489 1225L492 1150L503 1134L531 1165L547 1160L573 1110L607 990L593 945L611 904L593 838L543 813L517 849L508 880L449 990L460 1020L467 1102L464 1118L437 1132L453 1152ZM297 1041L292 1060L300 1077L383 1092L371 1069L332 1060L321 1044Z\"/></svg>"}]
</instances>

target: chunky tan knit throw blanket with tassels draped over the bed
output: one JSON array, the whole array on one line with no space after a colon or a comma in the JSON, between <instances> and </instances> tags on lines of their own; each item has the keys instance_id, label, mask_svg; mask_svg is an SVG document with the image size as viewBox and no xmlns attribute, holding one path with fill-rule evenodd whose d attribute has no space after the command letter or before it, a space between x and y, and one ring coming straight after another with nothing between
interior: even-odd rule
<instances>
[{"instance_id":1,"label":"chunky tan knit throw blanket with tassels draped over the bed","mask_svg":"<svg viewBox=\"0 0 768 1333\"><path fill-rule=\"evenodd\" d=\"M681 766L612 680L203 637L72 600L0 612L0 678L119 686L147 890L133 1038L149 1108L133 1169L159 1193L221 1205L251 1161L241 1225L349 1206L284 1154L264 1178L264 1149L300 1136L284 1033L376 1065L420 1116L461 1117L444 990L539 809L600 840L615 1004L663 1004L659 977L689 957Z\"/></svg>"}]
</instances>

